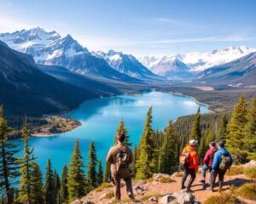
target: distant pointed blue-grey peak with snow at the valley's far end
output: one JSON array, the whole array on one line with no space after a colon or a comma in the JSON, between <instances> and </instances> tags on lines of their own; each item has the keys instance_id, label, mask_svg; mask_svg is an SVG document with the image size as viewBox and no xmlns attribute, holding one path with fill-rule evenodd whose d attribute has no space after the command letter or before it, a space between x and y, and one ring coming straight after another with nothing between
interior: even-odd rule
<instances>
[{"instance_id":1,"label":"distant pointed blue-grey peak with snow at the valley's far end","mask_svg":"<svg viewBox=\"0 0 256 204\"><path fill-rule=\"evenodd\" d=\"M163 57L160 60L148 60L150 70L155 74L166 77L168 79L190 79L194 75L189 71L189 66L185 65L176 57Z\"/></svg>"}]
</instances>

